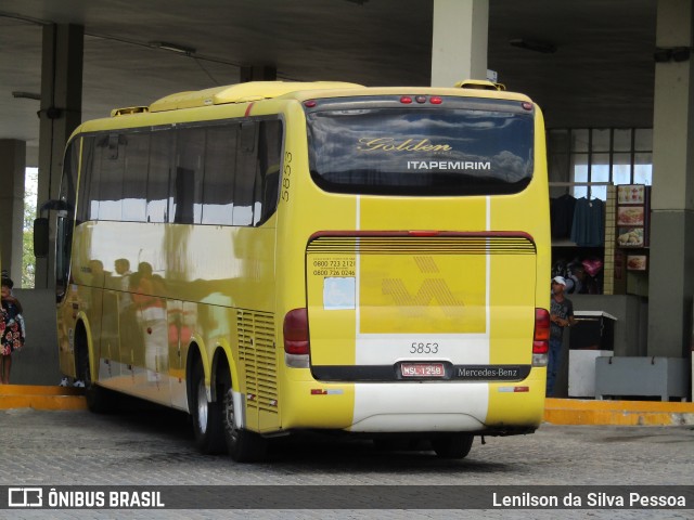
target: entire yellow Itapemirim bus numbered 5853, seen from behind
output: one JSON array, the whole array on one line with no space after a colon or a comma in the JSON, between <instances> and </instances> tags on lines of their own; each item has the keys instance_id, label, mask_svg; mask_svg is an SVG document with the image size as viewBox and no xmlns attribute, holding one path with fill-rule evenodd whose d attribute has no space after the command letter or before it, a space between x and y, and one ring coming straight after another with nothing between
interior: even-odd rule
<instances>
[{"instance_id":1,"label":"entire yellow Itapemirim bus numbered 5853, seen from behind","mask_svg":"<svg viewBox=\"0 0 694 520\"><path fill-rule=\"evenodd\" d=\"M486 82L249 82L114 109L69 140L62 372L191 414L254 460L301 430L532 432L544 405L544 128Z\"/></svg>"}]
</instances>

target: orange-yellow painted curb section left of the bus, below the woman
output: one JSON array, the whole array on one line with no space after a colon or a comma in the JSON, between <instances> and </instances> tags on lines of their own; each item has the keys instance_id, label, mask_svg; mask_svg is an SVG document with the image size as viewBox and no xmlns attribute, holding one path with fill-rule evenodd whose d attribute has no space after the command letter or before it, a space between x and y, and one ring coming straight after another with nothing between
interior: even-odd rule
<instances>
[{"instance_id":1,"label":"orange-yellow painted curb section left of the bus, below the woman","mask_svg":"<svg viewBox=\"0 0 694 520\"><path fill-rule=\"evenodd\" d=\"M83 389L0 385L0 410L86 410Z\"/></svg>"}]
</instances>

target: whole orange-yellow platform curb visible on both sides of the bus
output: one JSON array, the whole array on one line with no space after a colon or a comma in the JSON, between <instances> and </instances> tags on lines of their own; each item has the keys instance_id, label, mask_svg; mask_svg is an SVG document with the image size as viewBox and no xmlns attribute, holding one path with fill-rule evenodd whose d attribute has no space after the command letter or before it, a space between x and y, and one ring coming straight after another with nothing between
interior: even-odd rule
<instances>
[{"instance_id":1,"label":"whole orange-yellow platform curb visible on both sides of the bus","mask_svg":"<svg viewBox=\"0 0 694 520\"><path fill-rule=\"evenodd\" d=\"M81 388L0 385L0 410L86 410ZM694 426L694 403L547 399L544 421L552 425Z\"/></svg>"}]
</instances>

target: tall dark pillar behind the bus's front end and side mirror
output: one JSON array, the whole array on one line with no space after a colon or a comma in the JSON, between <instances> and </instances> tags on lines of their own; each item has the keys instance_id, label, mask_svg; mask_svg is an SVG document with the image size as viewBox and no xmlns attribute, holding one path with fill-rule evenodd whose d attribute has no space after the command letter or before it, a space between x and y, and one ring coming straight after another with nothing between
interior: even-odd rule
<instances>
[{"instance_id":1,"label":"tall dark pillar behind the bus's front end and side mirror","mask_svg":"<svg viewBox=\"0 0 694 520\"><path fill-rule=\"evenodd\" d=\"M57 198L63 153L72 132L81 122L82 48L85 28L78 25L43 27L41 57L41 110L39 129L38 205ZM53 221L54 221L54 214ZM54 240L54 226L51 226ZM36 260L36 287L52 287L55 258Z\"/></svg>"}]
</instances>

